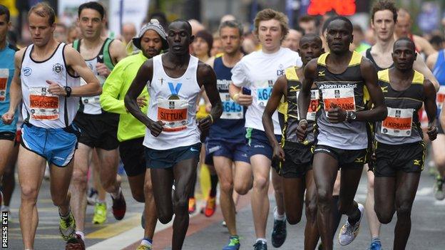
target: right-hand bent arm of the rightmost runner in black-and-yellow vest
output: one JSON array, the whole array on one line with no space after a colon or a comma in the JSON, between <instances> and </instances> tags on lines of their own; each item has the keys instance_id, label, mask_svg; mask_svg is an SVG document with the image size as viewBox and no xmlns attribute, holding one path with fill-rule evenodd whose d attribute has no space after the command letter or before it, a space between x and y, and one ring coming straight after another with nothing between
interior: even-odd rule
<instances>
[{"instance_id":1,"label":"right-hand bent arm of the rightmost runner in black-and-yellow vest","mask_svg":"<svg viewBox=\"0 0 445 250\"><path fill-rule=\"evenodd\" d=\"M426 111L426 116L428 116L428 129L426 134L428 134L429 140L435 140L437 137L437 127L436 127L436 90L434 85L429 80L424 81L424 107Z\"/></svg>"}]
</instances>

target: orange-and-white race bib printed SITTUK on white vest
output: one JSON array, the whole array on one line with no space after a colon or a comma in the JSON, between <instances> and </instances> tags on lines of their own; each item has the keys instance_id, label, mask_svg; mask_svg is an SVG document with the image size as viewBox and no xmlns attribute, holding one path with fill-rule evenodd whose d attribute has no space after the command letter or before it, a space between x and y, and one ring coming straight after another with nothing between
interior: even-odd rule
<instances>
[{"instance_id":1,"label":"orange-and-white race bib printed SITTUK on white vest","mask_svg":"<svg viewBox=\"0 0 445 250\"><path fill-rule=\"evenodd\" d=\"M158 120L165 123L163 131L173 132L187 128L187 100L158 99Z\"/></svg>"}]
</instances>

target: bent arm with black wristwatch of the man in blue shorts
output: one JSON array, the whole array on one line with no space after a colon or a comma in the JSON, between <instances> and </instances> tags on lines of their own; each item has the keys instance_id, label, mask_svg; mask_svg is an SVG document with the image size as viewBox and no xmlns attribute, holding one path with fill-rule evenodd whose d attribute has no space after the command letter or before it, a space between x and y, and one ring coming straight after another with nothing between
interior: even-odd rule
<instances>
[{"instance_id":1,"label":"bent arm with black wristwatch of the man in blue shorts","mask_svg":"<svg viewBox=\"0 0 445 250\"><path fill-rule=\"evenodd\" d=\"M73 69L78 75L86 81L86 85L76 86L71 88L71 96L95 96L102 93L101 85L99 80L94 76L93 71L91 71L88 66L86 66L80 53L78 53L74 48L65 46L65 60L66 65ZM67 69L68 70L68 69ZM51 83L50 85L53 85ZM60 85L59 85L60 86ZM51 91L53 93L53 91ZM65 95L63 95L65 93ZM61 95L66 96L66 91L63 89Z\"/></svg>"}]
</instances>

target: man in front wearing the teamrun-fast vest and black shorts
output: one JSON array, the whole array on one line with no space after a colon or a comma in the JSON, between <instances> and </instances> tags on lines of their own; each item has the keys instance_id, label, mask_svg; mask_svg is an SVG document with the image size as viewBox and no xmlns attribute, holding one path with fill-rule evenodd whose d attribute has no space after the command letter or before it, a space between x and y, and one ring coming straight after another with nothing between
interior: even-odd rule
<instances>
[{"instance_id":1,"label":"man in front wearing the teamrun-fast vest and black shorts","mask_svg":"<svg viewBox=\"0 0 445 250\"><path fill-rule=\"evenodd\" d=\"M317 187L317 224L324 249L332 249L332 189L339 167L339 212L348 216L339 233L339 243L347 245L357 236L363 206L354 202L354 196L367 155L365 122L383 120L387 113L374 66L359 53L349 51L352 39L349 19L337 16L328 24L326 40L330 52L307 64L298 100L297 133L303 140L307 132L310 89L312 83L317 85L322 103L312 168ZM372 110L367 107L369 95L374 103Z\"/></svg>"}]
</instances>

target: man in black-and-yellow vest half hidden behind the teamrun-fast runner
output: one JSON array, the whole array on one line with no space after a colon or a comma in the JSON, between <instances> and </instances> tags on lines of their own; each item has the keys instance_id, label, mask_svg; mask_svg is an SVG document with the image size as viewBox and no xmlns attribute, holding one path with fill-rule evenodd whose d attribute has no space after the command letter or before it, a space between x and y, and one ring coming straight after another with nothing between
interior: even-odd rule
<instances>
[{"instance_id":1,"label":"man in black-and-yellow vest half hidden behind the teamrun-fast runner","mask_svg":"<svg viewBox=\"0 0 445 250\"><path fill-rule=\"evenodd\" d=\"M287 68L285 75L280 76L272 88L272 95L267 102L265 112L262 115L262 124L265 133L274 148L273 157L280 160L280 176L283 177L283 191L287 221L290 224L300 222L303 211L303 202L306 200L306 229L305 249L315 249L319 234L317 229L317 203L315 197L315 184L312 176L312 146L314 145L314 133L311 131L314 125L315 114L319 107L319 93L316 86L311 90L310 115L308 125L310 134L305 142L299 142L297 138L298 110L297 98L304 79L304 66L312 58L317 58L324 53L322 39L314 33L303 36L300 40L298 53L302 58L303 66L300 68ZM287 114L285 127L283 128L281 145L274 135L272 114L275 113L280 100L287 101ZM306 191L306 199L303 197Z\"/></svg>"}]
</instances>

